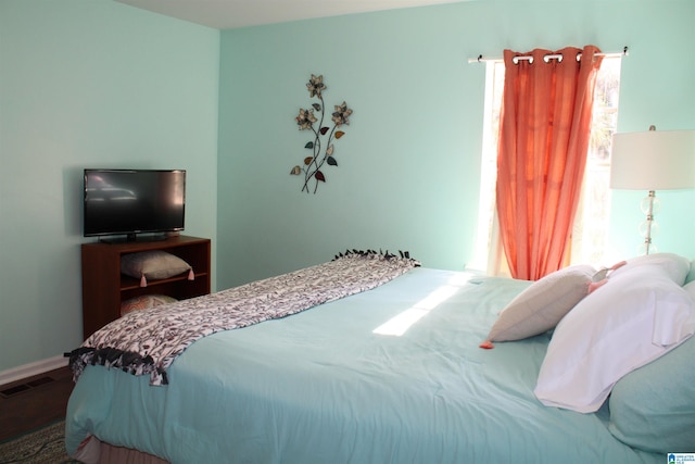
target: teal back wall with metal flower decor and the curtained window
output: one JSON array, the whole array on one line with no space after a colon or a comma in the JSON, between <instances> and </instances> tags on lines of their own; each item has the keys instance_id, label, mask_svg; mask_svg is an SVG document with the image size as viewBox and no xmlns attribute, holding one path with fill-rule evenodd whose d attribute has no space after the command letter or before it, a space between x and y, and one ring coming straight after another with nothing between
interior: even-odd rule
<instances>
[{"instance_id":1,"label":"teal back wall with metal flower decor and the curtained window","mask_svg":"<svg viewBox=\"0 0 695 464\"><path fill-rule=\"evenodd\" d=\"M229 287L345 248L410 250L460 269L475 246L484 66L503 49L630 47L619 130L695 128L695 2L472 1L222 34L218 283ZM317 195L289 175L308 140L294 116L323 74L354 109ZM332 106L330 106L332 109ZM636 253L645 192L616 192L611 254ZM695 192L665 192L661 251L695 256Z\"/></svg>"}]
</instances>

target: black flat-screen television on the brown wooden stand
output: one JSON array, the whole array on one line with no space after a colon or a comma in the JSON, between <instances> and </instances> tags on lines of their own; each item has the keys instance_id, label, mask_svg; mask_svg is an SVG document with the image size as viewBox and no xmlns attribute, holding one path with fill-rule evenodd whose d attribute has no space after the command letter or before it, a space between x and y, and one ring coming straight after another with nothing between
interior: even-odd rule
<instances>
[{"instance_id":1,"label":"black flat-screen television on the brown wooden stand","mask_svg":"<svg viewBox=\"0 0 695 464\"><path fill-rule=\"evenodd\" d=\"M184 230L186 171L85 170L84 198L85 237Z\"/></svg>"}]
</instances>

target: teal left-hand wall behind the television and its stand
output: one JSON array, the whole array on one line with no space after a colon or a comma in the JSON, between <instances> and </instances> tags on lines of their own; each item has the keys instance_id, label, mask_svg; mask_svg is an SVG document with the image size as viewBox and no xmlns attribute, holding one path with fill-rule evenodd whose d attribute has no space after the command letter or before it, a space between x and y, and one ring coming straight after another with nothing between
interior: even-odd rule
<instances>
[{"instance_id":1,"label":"teal left-hand wall behind the television and its stand","mask_svg":"<svg viewBox=\"0 0 695 464\"><path fill-rule=\"evenodd\" d=\"M84 167L188 170L216 234L219 32L110 0L0 1L0 372L81 342Z\"/></svg>"}]
</instances>

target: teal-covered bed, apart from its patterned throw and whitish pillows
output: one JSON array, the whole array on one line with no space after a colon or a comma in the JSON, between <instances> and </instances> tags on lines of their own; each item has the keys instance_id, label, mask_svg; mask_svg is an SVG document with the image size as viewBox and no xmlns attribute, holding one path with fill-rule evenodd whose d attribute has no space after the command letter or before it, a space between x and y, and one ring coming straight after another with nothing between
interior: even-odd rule
<instances>
[{"instance_id":1,"label":"teal-covered bed, apart from its patterned throw and whitish pillows","mask_svg":"<svg viewBox=\"0 0 695 464\"><path fill-rule=\"evenodd\" d=\"M596 411L578 412L546 405L536 397L559 326L555 335L544 330L497 339L491 350L480 348L501 310L519 296L539 288L536 297L553 293L539 285L547 279L532 284L383 256L376 253L367 261L412 265L349 296L213 330L176 355L164 377L162 371L125 372L113 356L98 360L73 351L71 365L78 378L67 407L68 453L87 463L108 460L106 450L135 450L151 462L366 464L662 463L667 452L695 452L695 369L690 361L695 353L690 338L695 292L684 286L687 260L678 260L672 276L690 299L679 301L672 312L672 326L681 327L678 341L621 375ZM615 283L579 304L619 288L619 272L661 269L665 260L635 260L626 266L631 268L615 272ZM219 293L194 304L215 298L218 302ZM181 305L166 308L176 312ZM560 325L579 310L571 305ZM690 363L690 371L672 381L678 363ZM668 383L659 378L665 373L670 373ZM653 388L673 392L656 401ZM616 398L619 393L623 399ZM659 401L675 403L659 404L654 422L631 409ZM662 417L665 409L685 417L674 423ZM655 431L661 424L664 430ZM672 436L673 429L680 441L664 441L664 434Z\"/></svg>"}]
</instances>

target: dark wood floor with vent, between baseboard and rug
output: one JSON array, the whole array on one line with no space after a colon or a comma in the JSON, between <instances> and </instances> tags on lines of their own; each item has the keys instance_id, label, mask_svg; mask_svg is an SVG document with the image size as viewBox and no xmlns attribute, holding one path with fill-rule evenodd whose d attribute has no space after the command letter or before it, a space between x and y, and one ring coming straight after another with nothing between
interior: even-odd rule
<instances>
[{"instance_id":1,"label":"dark wood floor with vent, between baseboard and rug","mask_svg":"<svg viewBox=\"0 0 695 464\"><path fill-rule=\"evenodd\" d=\"M64 418L73 386L67 367L0 386L0 441Z\"/></svg>"}]
</instances>

